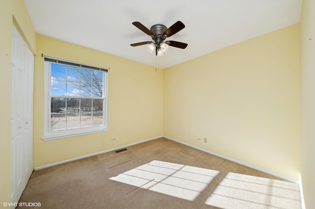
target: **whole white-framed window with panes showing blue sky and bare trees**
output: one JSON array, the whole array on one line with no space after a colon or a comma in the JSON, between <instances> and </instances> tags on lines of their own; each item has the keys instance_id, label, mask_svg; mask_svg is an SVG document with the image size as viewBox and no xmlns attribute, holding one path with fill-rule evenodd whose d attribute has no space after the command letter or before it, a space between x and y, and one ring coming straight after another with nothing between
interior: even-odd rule
<instances>
[{"instance_id":1,"label":"whole white-framed window with panes showing blue sky and bare trees","mask_svg":"<svg viewBox=\"0 0 315 209\"><path fill-rule=\"evenodd\" d=\"M45 57L45 135L58 139L107 126L107 69Z\"/></svg>"}]
</instances>

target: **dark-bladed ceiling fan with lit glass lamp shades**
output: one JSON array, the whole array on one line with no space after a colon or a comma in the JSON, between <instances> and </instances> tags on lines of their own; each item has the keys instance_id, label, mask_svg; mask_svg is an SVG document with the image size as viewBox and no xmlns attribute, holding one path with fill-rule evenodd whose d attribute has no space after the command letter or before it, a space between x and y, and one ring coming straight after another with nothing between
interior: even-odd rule
<instances>
[{"instance_id":1,"label":"dark-bladed ceiling fan with lit glass lamp shades","mask_svg":"<svg viewBox=\"0 0 315 209\"><path fill-rule=\"evenodd\" d=\"M156 56L162 56L163 52L167 52L168 46L180 49L185 49L188 46L188 44L178 41L164 41L167 37L174 35L175 33L179 32L185 27L185 25L181 21L177 21L174 25L170 26L169 28L167 28L164 25L157 24L152 26L150 30L139 22L133 22L132 25L138 27L140 30L151 36L151 38L153 39L153 41L144 41L135 44L130 44L130 46L132 47L149 44L147 46L149 52L152 53L155 47Z\"/></svg>"}]
</instances>

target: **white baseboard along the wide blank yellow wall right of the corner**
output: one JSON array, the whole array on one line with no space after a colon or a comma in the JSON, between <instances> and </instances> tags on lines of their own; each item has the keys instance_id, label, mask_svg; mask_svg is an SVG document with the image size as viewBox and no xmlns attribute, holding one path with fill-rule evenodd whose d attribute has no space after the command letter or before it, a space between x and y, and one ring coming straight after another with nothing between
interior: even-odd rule
<instances>
[{"instance_id":1,"label":"white baseboard along the wide blank yellow wall right of the corner","mask_svg":"<svg viewBox=\"0 0 315 209\"><path fill-rule=\"evenodd\" d=\"M163 137L164 137L164 138L167 138L167 139L170 139L170 140L173 140L173 141L176 141L176 142L178 142L178 143L184 144L184 145L186 145L186 146L192 147L192 148L194 148L194 149L196 149L196 150L200 150L200 151L202 151L202 152L209 153L209 154L211 154L211 155L218 156L218 157L221 157L221 158L230 160L230 161L232 161L232 162L236 162L236 163L238 163L238 164L245 165L245 166L247 166L247 167L256 169L256 170L258 170L258 171L261 171L261 172L264 172L264 173L267 173L267 174L270 174L270 175L279 177L279 178L284 179L284 180L287 180L287 181L289 181L289 182L298 183L298 184L300 183L299 181L296 181L296 180L294 180L294 179L287 178L287 177L282 176L282 175L279 175L279 174L277 174L277 173L273 173L273 172L271 172L271 171L268 171L268 170L265 170L265 169L262 169L262 168L259 168L259 167L256 167L256 166L253 166L253 165L250 165L250 164L247 164L247 163L244 163L244 162L241 162L241 161L238 161L238 160L229 158L229 157L221 156L221 155L219 155L219 154L217 154L217 153L213 153L213 152L210 152L210 151L208 151L208 150L201 149L200 147L195 147L195 146L193 146L193 145L187 144L187 143L182 142L182 141L178 141L178 140L176 140L176 139L173 139L173 138L170 138L170 137L167 137L167 136L163 136Z\"/></svg>"}]
</instances>

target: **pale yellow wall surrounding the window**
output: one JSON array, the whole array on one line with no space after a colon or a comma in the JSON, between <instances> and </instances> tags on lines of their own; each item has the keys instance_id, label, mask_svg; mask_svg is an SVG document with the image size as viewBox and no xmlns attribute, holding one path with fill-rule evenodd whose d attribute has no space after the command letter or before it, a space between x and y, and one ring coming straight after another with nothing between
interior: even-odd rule
<instances>
[{"instance_id":1,"label":"pale yellow wall surrounding the window","mask_svg":"<svg viewBox=\"0 0 315 209\"><path fill-rule=\"evenodd\" d=\"M34 63L34 167L94 154L163 135L163 71L117 56L37 35ZM110 130L43 141L44 58L109 67L108 124ZM116 137L116 141L111 138Z\"/></svg>"}]
</instances>

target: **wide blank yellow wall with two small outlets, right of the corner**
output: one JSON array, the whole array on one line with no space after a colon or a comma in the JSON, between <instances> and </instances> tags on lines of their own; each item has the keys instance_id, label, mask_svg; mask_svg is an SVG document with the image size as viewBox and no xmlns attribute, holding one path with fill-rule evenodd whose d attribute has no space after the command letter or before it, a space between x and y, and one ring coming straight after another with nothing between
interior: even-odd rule
<instances>
[{"instance_id":1,"label":"wide blank yellow wall with two small outlets, right of the corner","mask_svg":"<svg viewBox=\"0 0 315 209\"><path fill-rule=\"evenodd\" d=\"M294 25L165 69L164 136L299 180L299 60Z\"/></svg>"}]
</instances>

